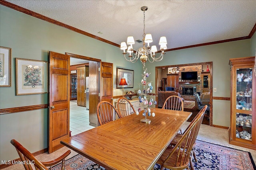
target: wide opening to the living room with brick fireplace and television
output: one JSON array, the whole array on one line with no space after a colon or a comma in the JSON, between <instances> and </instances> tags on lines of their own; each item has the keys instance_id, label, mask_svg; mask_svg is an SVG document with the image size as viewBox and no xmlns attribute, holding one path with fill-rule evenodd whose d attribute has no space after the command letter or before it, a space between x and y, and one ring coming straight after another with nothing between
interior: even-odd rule
<instances>
[{"instance_id":1,"label":"wide opening to the living room with brick fireplace and television","mask_svg":"<svg viewBox=\"0 0 256 170\"><path fill-rule=\"evenodd\" d=\"M182 72L186 72L186 74L182 74ZM197 75L192 75L195 72ZM188 76L190 73L193 80L190 80ZM185 75L186 78L184 78ZM166 91L169 86L180 93L188 103L195 102L195 106L192 108L184 107L184 111L193 113L188 121L192 121L199 112L194 93L197 92L199 96L207 94L209 101L207 105L210 107L210 111L206 114L202 124L212 126L212 62L156 66L156 95L158 91Z\"/></svg>"}]
</instances>

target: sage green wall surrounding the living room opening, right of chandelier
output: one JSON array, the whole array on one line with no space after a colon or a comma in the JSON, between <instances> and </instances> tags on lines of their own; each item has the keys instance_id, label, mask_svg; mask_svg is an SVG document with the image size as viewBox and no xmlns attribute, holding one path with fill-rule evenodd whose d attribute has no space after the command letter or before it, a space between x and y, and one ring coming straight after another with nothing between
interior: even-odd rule
<instances>
[{"instance_id":1,"label":"sage green wall surrounding the living room opening, right of chandelier","mask_svg":"<svg viewBox=\"0 0 256 170\"><path fill-rule=\"evenodd\" d=\"M155 66L168 66L175 64L213 62L213 92L216 97L230 97L230 58L249 57L250 39L206 45L189 49L168 51L160 62L146 63L148 72L151 72L148 80L155 81ZM152 83L155 86L154 83ZM213 100L212 124L230 126L230 101Z\"/></svg>"}]
</instances>

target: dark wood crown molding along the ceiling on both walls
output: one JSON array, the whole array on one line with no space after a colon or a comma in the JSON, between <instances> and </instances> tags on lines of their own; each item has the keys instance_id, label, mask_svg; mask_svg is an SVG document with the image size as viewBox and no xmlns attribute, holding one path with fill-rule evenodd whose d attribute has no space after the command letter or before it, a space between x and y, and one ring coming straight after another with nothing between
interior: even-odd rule
<instances>
[{"instance_id":1,"label":"dark wood crown molding along the ceiling on both walls","mask_svg":"<svg viewBox=\"0 0 256 170\"><path fill-rule=\"evenodd\" d=\"M14 9L14 10L16 10L16 11L22 12L22 13L24 13L24 14L28 14L28 15L30 15L30 16L39 18L39 19L41 19L41 20L48 21L48 22L50 22L50 23L54 23L54 24L59 25L59 26L61 26L61 27L65 27L65 28L67 28L67 29L70 29L70 30L75 31L75 32L77 32L77 33L86 35L86 36L88 36L88 37L92 37L92 38L97 39L97 40L99 40L99 41L103 41L104 43L108 43L108 44L110 44L110 45L114 45L114 46L116 46L116 47L120 47L119 44L116 44L116 43L114 43L114 42L112 42L112 41L108 41L108 40L106 40L106 39L100 38L100 37L98 37L98 36L96 36L96 35L93 35L93 34L90 34L90 33L88 33L88 32L82 31L82 30L80 30L80 29L77 29L77 28L75 28L75 27L72 27L72 26L70 26L70 25L67 25L67 24L65 24L65 23L62 23L62 22L60 22L60 21L53 20L52 18L48 18L48 17L46 17L46 16L43 16L43 15L41 15L41 14L38 14L38 13L36 13L36 12L33 12L33 11L28 10L28 9L26 9L26 8L23 8L23 7L21 7L21 6L12 4L12 3L7 2L7 1L5 1L5 0L0 0L0 4L1 4L1 5L4 5L4 6L7 6L7 7L9 7L9 8L12 8L12 9ZM224 39L224 40L220 40L220 41L213 41L213 42L209 42L209 43L201 43L201 44L195 44L195 45L188 45L188 46L184 46L184 47L177 47L177 48L172 48L172 49L166 49L166 50L164 50L164 51L167 52L167 51L174 51L174 50L180 50L180 49L188 49L188 48L192 48L192 47L200 47L200 46L205 46L205 45L213 45L213 44L218 44L218 43L226 43L226 42L230 42L230 41L238 41L238 40L243 40L243 39L250 39L250 38L252 37L252 35L254 35L255 31L256 31L256 23L255 23L254 27L252 28L250 34L249 34L248 36L245 36L245 37L237 37L237 38L232 38L232 39ZM160 51L157 51L157 53L158 53L158 52L160 52Z\"/></svg>"}]
</instances>

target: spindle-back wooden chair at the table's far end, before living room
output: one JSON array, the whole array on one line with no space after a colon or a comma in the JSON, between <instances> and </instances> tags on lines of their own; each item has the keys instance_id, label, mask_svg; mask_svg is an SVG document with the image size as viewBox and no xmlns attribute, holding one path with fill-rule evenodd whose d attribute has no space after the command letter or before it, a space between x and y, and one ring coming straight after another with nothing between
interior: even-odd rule
<instances>
[{"instance_id":1,"label":"spindle-back wooden chair at the table's far end, before living room","mask_svg":"<svg viewBox=\"0 0 256 170\"><path fill-rule=\"evenodd\" d=\"M169 96L168 98L166 98L162 109L183 111L184 104L182 98L180 98L179 96Z\"/></svg>"}]
</instances>

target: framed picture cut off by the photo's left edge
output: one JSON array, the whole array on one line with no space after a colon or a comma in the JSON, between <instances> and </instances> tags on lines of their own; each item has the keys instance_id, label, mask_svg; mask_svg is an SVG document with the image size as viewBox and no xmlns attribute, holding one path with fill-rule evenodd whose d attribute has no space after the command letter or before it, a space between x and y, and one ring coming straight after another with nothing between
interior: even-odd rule
<instances>
[{"instance_id":1,"label":"framed picture cut off by the photo's left edge","mask_svg":"<svg viewBox=\"0 0 256 170\"><path fill-rule=\"evenodd\" d=\"M12 49L0 47L0 87L11 86L11 58Z\"/></svg>"}]
</instances>

